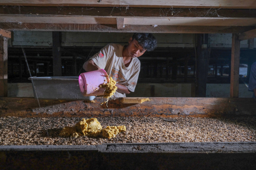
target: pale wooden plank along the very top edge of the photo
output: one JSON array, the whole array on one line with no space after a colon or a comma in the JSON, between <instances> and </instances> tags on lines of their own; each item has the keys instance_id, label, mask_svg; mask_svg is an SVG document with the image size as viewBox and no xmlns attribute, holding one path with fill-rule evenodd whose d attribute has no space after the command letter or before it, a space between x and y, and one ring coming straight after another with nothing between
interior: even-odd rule
<instances>
[{"instance_id":1,"label":"pale wooden plank along the very top edge of the photo","mask_svg":"<svg viewBox=\"0 0 256 170\"><path fill-rule=\"evenodd\" d=\"M0 5L4 6L102 6L102 7L166 7L166 8L242 8L255 9L256 2L254 0L1 0Z\"/></svg>"}]
</instances>

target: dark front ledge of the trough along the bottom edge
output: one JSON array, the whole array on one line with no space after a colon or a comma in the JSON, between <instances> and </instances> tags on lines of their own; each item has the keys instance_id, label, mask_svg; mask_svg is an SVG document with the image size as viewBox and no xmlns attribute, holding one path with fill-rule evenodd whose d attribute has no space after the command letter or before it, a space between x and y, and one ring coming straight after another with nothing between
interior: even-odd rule
<instances>
[{"instance_id":1,"label":"dark front ledge of the trough along the bottom edge","mask_svg":"<svg viewBox=\"0 0 256 170\"><path fill-rule=\"evenodd\" d=\"M0 146L0 169L254 169L256 143Z\"/></svg>"}]
</instances>

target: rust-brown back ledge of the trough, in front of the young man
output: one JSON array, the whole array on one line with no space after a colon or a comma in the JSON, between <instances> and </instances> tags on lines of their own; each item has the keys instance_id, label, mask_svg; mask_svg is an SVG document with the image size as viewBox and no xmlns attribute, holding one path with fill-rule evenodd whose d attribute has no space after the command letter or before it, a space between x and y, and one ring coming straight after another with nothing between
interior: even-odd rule
<instances>
[{"instance_id":1,"label":"rust-brown back ledge of the trough, in front of the young man","mask_svg":"<svg viewBox=\"0 0 256 170\"><path fill-rule=\"evenodd\" d=\"M129 98L128 98L129 99ZM141 98L143 99L143 98ZM227 115L256 115L253 98L149 98L142 104L125 104L122 98L93 102L67 100L39 100L34 98L0 98L0 117L223 117Z\"/></svg>"}]
</instances>

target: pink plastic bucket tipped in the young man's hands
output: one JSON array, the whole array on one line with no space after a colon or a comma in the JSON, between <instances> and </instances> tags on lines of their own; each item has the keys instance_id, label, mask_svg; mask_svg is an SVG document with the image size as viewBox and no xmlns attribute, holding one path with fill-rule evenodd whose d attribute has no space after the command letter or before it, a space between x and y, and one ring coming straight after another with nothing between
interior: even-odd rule
<instances>
[{"instance_id":1,"label":"pink plastic bucket tipped in the young man's hands","mask_svg":"<svg viewBox=\"0 0 256 170\"><path fill-rule=\"evenodd\" d=\"M84 72L79 76L80 91L84 96L101 96L104 94L104 88L100 85L107 83L107 72L104 69Z\"/></svg>"}]
</instances>

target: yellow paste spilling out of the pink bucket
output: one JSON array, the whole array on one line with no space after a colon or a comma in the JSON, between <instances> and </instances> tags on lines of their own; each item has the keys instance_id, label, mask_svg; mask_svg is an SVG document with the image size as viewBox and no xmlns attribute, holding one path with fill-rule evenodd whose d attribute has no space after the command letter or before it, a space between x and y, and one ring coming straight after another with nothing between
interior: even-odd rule
<instances>
[{"instance_id":1,"label":"yellow paste spilling out of the pink bucket","mask_svg":"<svg viewBox=\"0 0 256 170\"><path fill-rule=\"evenodd\" d=\"M107 75L107 78L108 78L108 75ZM109 82L107 82L106 84L102 84L100 85L101 88L105 88L104 90L104 95L103 95L103 98L107 98L107 101L108 102L108 99L114 95L114 93L116 92L117 90L117 87L116 87L116 81L113 80L112 77L109 78ZM106 103L106 102L103 102L102 104Z\"/></svg>"}]
</instances>

